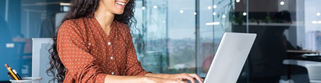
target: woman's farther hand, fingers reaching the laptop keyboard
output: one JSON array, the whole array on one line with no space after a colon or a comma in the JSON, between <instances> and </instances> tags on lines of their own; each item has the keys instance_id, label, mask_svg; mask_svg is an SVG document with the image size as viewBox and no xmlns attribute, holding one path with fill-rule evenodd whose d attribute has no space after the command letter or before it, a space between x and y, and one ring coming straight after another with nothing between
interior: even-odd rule
<instances>
[{"instance_id":1,"label":"woman's farther hand, fingers reaching the laptop keyboard","mask_svg":"<svg viewBox=\"0 0 321 83\"><path fill-rule=\"evenodd\" d=\"M191 73L180 73L180 74L154 74L154 73L147 73L145 76L151 77L158 77L158 78L165 78L165 79L173 79L173 80L183 80L188 81L190 80L192 83L195 83L195 80L198 80L199 83L203 83L203 79L199 77L197 74Z\"/></svg>"}]
</instances>

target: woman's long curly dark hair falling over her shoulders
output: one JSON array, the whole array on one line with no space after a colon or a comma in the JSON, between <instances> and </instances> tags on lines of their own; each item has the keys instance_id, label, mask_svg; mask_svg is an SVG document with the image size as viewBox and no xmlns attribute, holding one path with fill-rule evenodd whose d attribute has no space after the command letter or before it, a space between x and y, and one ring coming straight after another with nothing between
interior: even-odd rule
<instances>
[{"instance_id":1,"label":"woman's long curly dark hair falling over her shoulders","mask_svg":"<svg viewBox=\"0 0 321 83\"><path fill-rule=\"evenodd\" d=\"M81 17L93 17L93 13L98 8L99 1L100 0L72 0L70 9L66 13L65 17L62 19L61 24L69 19L77 19ZM127 26L129 27L135 27L136 19L134 18L134 10L135 10L134 6L135 6L135 0L130 0L125 6L124 13L120 15L115 14L114 20L123 22L127 24ZM57 27L57 29L59 27ZM131 32L133 32L133 30L135 29L137 28L131 28ZM51 53L51 55L49 56L50 68L46 72L48 76L54 77L50 81L53 81L53 82L57 81L58 83L62 83L65 79L66 68L58 56L57 31L55 32L55 35L52 38L52 40L53 40L53 45L49 49L49 52Z\"/></svg>"}]
</instances>

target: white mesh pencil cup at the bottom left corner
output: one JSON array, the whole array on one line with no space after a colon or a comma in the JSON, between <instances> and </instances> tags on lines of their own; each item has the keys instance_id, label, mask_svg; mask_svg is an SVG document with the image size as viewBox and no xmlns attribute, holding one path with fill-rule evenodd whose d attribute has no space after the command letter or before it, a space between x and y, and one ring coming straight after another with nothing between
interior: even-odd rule
<instances>
[{"instance_id":1,"label":"white mesh pencil cup at the bottom left corner","mask_svg":"<svg viewBox=\"0 0 321 83\"><path fill-rule=\"evenodd\" d=\"M39 77L26 77L22 78L22 80L12 80L10 79L11 83L40 83L42 78Z\"/></svg>"}]
</instances>

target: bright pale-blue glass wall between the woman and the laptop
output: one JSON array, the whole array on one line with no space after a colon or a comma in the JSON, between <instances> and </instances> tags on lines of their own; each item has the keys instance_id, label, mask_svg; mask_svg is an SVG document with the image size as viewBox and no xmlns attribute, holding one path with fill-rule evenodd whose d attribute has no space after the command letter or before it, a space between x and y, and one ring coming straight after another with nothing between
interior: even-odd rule
<instances>
[{"instance_id":1,"label":"bright pale-blue glass wall between the woman and the laptop","mask_svg":"<svg viewBox=\"0 0 321 83\"><path fill-rule=\"evenodd\" d=\"M136 38L143 41L136 42L136 49L142 50L143 67L205 77L222 35L239 17L234 11L233 0L138 0L135 13L143 36ZM240 18L246 23L245 15Z\"/></svg>"}]
</instances>

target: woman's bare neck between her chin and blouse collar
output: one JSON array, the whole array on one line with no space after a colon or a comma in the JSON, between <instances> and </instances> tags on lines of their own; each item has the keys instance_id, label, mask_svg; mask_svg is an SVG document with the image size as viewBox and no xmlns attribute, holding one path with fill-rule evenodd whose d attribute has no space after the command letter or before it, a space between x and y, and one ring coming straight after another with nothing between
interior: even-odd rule
<instances>
[{"instance_id":1,"label":"woman's bare neck between her chin and blouse collar","mask_svg":"<svg viewBox=\"0 0 321 83\"><path fill-rule=\"evenodd\" d=\"M98 9L94 12L95 18L98 20L103 29L110 28L111 23L114 20L115 14L107 11L104 7L101 6L102 5L100 5L100 7L98 7Z\"/></svg>"}]
</instances>

